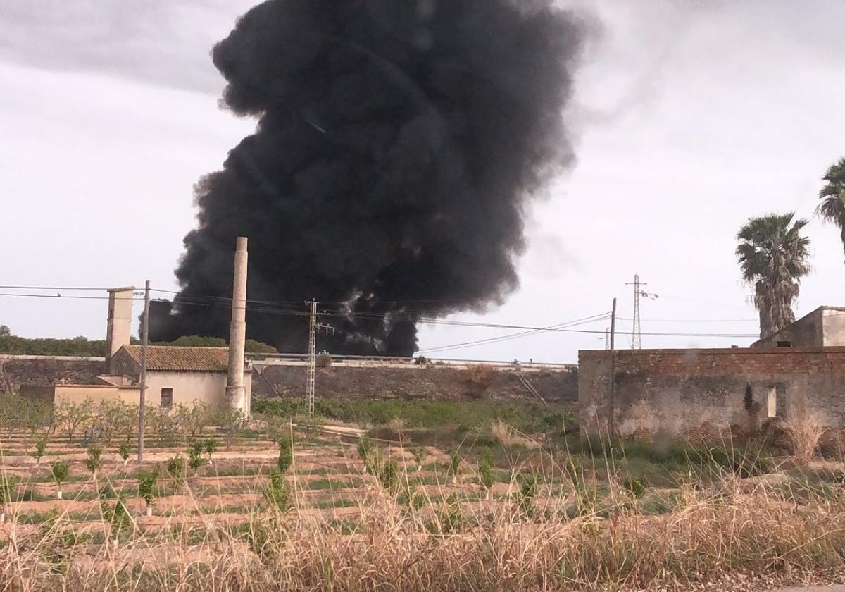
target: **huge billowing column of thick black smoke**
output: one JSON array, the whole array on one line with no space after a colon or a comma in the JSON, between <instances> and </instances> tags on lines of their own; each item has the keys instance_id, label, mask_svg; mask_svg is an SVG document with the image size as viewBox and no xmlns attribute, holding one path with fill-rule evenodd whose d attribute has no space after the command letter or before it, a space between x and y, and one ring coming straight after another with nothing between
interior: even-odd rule
<instances>
[{"instance_id":1,"label":"huge billowing column of thick black smoke","mask_svg":"<svg viewBox=\"0 0 845 592\"><path fill-rule=\"evenodd\" d=\"M526 6L526 5L531 5ZM235 237L249 337L303 351L316 298L333 352L409 355L417 319L518 284L526 199L571 160L561 112L581 26L526 0L269 0L216 45L226 107L259 119L196 187L177 314L154 339L225 337ZM201 299L209 303L208 299ZM342 304L346 303L346 304ZM164 312L165 314L161 314Z\"/></svg>"}]
</instances>

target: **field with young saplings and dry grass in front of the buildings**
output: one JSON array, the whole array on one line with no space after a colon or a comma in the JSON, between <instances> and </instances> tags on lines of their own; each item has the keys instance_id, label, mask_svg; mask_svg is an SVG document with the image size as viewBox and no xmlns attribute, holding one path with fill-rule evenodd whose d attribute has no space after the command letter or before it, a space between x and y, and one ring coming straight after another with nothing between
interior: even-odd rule
<instances>
[{"instance_id":1,"label":"field with young saplings and dry grass in front of the buildings","mask_svg":"<svg viewBox=\"0 0 845 592\"><path fill-rule=\"evenodd\" d=\"M131 432L109 437L103 424L117 415L97 409L73 436L61 409L34 431L4 425L0 589L771 589L841 579L837 459L754 442L582 440L567 408L366 404L326 402L334 417L308 419L275 402L234 423L188 409L180 424L176 410L170 428L160 419L150 429L142 464ZM358 419L337 419L346 413Z\"/></svg>"}]
</instances>

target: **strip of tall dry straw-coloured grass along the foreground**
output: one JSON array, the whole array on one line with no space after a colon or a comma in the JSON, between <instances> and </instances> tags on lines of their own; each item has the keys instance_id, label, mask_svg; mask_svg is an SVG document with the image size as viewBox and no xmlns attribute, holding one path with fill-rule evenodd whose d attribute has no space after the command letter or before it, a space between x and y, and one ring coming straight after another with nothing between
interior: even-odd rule
<instances>
[{"instance_id":1,"label":"strip of tall dry straw-coloured grass along the foreground","mask_svg":"<svg viewBox=\"0 0 845 592\"><path fill-rule=\"evenodd\" d=\"M570 491L532 516L483 502L455 516L382 493L352 534L313 514L256 508L240 534L210 519L195 529L173 522L134 529L117 548L84 542L59 517L35 540L13 530L0 551L0 589L688 589L732 573L788 577L845 563L841 497L799 508L725 478L711 491L685 488L667 515L643 516L620 496L602 512L567 518L564 507L581 496Z\"/></svg>"}]
</instances>

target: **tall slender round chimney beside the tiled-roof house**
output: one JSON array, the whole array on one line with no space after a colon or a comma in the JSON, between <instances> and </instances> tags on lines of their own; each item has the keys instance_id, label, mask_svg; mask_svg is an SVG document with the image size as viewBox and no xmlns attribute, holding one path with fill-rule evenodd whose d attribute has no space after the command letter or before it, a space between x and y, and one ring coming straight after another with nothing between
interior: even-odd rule
<instances>
[{"instance_id":1,"label":"tall slender round chimney beside the tiled-roof house","mask_svg":"<svg viewBox=\"0 0 845 592\"><path fill-rule=\"evenodd\" d=\"M237 237L232 283L232 324L229 326L229 376L226 400L235 409L246 408L243 358L247 339L247 238Z\"/></svg>"}]
</instances>

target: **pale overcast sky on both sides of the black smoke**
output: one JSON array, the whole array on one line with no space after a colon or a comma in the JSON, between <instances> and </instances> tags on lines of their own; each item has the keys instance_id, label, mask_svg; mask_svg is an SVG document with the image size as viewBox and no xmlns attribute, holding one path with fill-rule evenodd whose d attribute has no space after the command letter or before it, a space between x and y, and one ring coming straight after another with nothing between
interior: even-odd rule
<instances>
[{"instance_id":1,"label":"pale overcast sky on both sides of the black smoke","mask_svg":"<svg viewBox=\"0 0 845 592\"><path fill-rule=\"evenodd\" d=\"M0 0L0 284L177 289L192 186L254 129L218 106L209 58L252 4ZM617 296L630 333L625 284L638 271L659 296L642 303L644 347L749 344L689 334L759 331L734 235L772 211L812 217L820 177L845 156L845 3L575 8L595 31L563 114L578 162L527 212L519 291L455 318L550 326L609 311ZM845 304L837 229L814 219L808 233L799 315ZM0 296L0 324L26 337L103 338L105 321L100 300ZM511 332L423 327L421 346ZM548 332L440 355L575 362L602 347L600 333Z\"/></svg>"}]
</instances>

